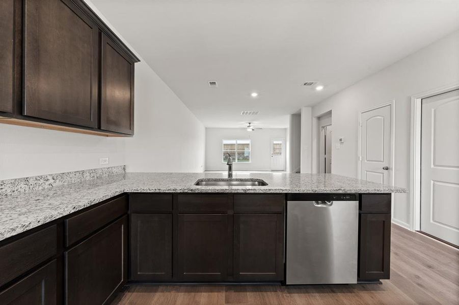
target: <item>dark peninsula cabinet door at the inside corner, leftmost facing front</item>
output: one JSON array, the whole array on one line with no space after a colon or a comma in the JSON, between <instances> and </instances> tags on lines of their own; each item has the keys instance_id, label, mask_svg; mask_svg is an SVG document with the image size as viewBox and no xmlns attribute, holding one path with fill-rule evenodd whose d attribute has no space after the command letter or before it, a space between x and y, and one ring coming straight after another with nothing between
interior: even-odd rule
<instances>
[{"instance_id":1,"label":"dark peninsula cabinet door at the inside corner, leftmost facing front","mask_svg":"<svg viewBox=\"0 0 459 305\"><path fill-rule=\"evenodd\" d=\"M130 226L130 279L172 280L172 215L132 214Z\"/></svg>"}]
</instances>

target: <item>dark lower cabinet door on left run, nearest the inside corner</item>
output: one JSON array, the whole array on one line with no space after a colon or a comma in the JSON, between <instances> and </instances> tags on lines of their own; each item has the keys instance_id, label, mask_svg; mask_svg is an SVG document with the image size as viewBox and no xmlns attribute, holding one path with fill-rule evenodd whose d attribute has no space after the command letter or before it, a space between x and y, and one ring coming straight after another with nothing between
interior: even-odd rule
<instances>
[{"instance_id":1,"label":"dark lower cabinet door on left run, nearest the inside corner","mask_svg":"<svg viewBox=\"0 0 459 305\"><path fill-rule=\"evenodd\" d=\"M126 281L127 216L64 253L65 301L104 304Z\"/></svg>"}]
</instances>

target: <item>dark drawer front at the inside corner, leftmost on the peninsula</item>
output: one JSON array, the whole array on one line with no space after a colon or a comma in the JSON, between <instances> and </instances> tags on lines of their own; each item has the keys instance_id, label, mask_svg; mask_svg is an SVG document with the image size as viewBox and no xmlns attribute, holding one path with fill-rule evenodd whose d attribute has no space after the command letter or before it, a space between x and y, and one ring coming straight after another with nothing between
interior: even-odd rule
<instances>
[{"instance_id":1,"label":"dark drawer front at the inside corner, leftmost on the peninsula","mask_svg":"<svg viewBox=\"0 0 459 305\"><path fill-rule=\"evenodd\" d=\"M161 213L172 211L172 194L130 194L132 213Z\"/></svg>"}]
</instances>

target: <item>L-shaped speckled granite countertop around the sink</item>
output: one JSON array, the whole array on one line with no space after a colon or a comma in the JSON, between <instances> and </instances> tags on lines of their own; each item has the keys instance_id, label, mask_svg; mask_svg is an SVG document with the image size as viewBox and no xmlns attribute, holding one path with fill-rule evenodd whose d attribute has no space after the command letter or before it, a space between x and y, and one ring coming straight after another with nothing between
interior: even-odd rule
<instances>
[{"instance_id":1,"label":"L-shaped speckled granite countertop around the sink","mask_svg":"<svg viewBox=\"0 0 459 305\"><path fill-rule=\"evenodd\" d=\"M235 173L258 178L259 187L195 186L222 173L125 173L40 191L0 197L0 240L125 192L151 193L406 193L398 187L335 174Z\"/></svg>"}]
</instances>

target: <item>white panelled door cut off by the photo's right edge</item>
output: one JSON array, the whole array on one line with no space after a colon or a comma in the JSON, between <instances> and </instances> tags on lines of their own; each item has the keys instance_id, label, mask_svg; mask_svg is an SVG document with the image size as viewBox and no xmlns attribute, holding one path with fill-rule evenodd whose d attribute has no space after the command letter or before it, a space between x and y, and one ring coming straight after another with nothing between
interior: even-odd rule
<instances>
[{"instance_id":1,"label":"white panelled door cut off by the photo's right edge","mask_svg":"<svg viewBox=\"0 0 459 305\"><path fill-rule=\"evenodd\" d=\"M421 231L459 246L459 90L422 99Z\"/></svg>"}]
</instances>

